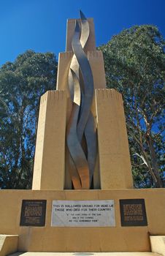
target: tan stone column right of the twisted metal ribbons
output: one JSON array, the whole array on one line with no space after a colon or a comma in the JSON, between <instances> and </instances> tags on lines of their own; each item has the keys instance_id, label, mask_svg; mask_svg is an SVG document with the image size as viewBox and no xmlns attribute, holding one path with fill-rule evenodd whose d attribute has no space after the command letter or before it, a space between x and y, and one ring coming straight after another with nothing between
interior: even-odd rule
<instances>
[{"instance_id":1,"label":"tan stone column right of the twisted metal ribbons","mask_svg":"<svg viewBox=\"0 0 165 256\"><path fill-rule=\"evenodd\" d=\"M133 180L121 94L96 89L101 189L131 189Z\"/></svg>"}]
</instances>

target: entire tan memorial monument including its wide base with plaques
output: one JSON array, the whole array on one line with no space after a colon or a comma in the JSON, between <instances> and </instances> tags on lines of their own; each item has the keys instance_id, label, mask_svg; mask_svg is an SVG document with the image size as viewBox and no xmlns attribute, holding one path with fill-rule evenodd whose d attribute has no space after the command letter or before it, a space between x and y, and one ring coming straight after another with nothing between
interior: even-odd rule
<instances>
[{"instance_id":1,"label":"entire tan memorial monument including its wide base with plaques","mask_svg":"<svg viewBox=\"0 0 165 256\"><path fill-rule=\"evenodd\" d=\"M40 101L32 189L0 191L0 255L164 253L165 190L133 187L122 96L106 89L82 12L68 20L56 88Z\"/></svg>"}]
</instances>

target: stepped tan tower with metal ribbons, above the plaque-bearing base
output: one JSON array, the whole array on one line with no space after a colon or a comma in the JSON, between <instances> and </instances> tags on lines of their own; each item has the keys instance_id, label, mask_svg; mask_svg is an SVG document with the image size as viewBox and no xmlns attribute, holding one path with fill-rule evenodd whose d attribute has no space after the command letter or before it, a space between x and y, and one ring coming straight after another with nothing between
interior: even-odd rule
<instances>
[{"instance_id":1,"label":"stepped tan tower with metal ribbons, above the plaque-bearing base","mask_svg":"<svg viewBox=\"0 0 165 256\"><path fill-rule=\"evenodd\" d=\"M67 23L57 90L41 99L33 189L130 189L122 97L106 89L93 19L80 14Z\"/></svg>"}]
</instances>

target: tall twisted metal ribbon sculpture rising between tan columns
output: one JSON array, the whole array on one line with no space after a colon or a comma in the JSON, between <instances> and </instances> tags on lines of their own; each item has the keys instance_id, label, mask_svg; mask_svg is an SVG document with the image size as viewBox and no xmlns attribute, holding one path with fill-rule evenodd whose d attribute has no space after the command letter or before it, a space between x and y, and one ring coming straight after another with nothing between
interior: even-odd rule
<instances>
[{"instance_id":1,"label":"tall twisted metal ribbon sculpture rising between tan columns","mask_svg":"<svg viewBox=\"0 0 165 256\"><path fill-rule=\"evenodd\" d=\"M91 113L93 75L83 50L90 29L81 11L80 23L81 26L76 20L72 38L74 56L69 69L69 91L73 105L66 141L71 156L70 173L74 189L90 189L96 160L96 128Z\"/></svg>"}]
</instances>

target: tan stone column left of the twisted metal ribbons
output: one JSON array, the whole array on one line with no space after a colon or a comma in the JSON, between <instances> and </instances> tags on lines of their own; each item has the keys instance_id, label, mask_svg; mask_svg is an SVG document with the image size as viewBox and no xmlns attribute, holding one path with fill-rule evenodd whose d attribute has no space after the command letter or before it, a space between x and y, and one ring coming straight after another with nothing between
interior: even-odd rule
<instances>
[{"instance_id":1,"label":"tan stone column left of the twisted metal ribbons","mask_svg":"<svg viewBox=\"0 0 165 256\"><path fill-rule=\"evenodd\" d=\"M64 189L66 91L41 97L32 189Z\"/></svg>"}]
</instances>

